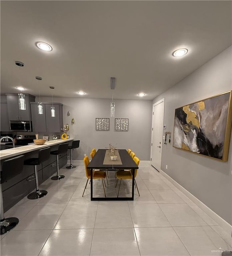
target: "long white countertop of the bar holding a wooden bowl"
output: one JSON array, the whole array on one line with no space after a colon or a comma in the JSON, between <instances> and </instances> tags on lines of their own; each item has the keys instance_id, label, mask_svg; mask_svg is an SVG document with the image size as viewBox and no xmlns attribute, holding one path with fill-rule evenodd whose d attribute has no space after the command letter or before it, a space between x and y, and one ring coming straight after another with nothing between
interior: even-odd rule
<instances>
[{"instance_id":1,"label":"long white countertop of the bar holding a wooden bowl","mask_svg":"<svg viewBox=\"0 0 232 256\"><path fill-rule=\"evenodd\" d=\"M42 148L47 148L49 146L54 146L54 145L65 143L65 142L68 142L71 140L73 140L73 139L49 140L49 141L46 141L46 143L43 145L33 144L33 145L20 146L18 148L9 148L9 149L0 150L0 160L9 158L9 157L19 156L24 153L32 152L34 150L38 150L38 149L42 149Z\"/></svg>"}]
</instances>

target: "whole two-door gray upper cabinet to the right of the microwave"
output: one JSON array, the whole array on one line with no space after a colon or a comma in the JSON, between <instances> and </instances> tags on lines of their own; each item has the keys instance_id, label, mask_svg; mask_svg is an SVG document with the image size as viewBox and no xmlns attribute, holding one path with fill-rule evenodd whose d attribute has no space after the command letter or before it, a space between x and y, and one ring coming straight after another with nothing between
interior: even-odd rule
<instances>
[{"instance_id":1,"label":"whole two-door gray upper cabinet to the right of the microwave","mask_svg":"<svg viewBox=\"0 0 232 256\"><path fill-rule=\"evenodd\" d=\"M63 128L63 104L53 103L55 116L51 116L51 103L43 102L43 114L38 114L38 104L31 103L32 125L35 132L61 132Z\"/></svg>"}]
</instances>

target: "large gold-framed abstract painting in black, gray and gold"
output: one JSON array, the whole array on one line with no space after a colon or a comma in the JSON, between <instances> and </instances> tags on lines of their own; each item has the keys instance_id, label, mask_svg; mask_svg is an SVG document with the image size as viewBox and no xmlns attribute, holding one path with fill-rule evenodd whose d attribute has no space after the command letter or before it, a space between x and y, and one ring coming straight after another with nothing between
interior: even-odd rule
<instances>
[{"instance_id":1,"label":"large gold-framed abstract painting in black, gray and gold","mask_svg":"<svg viewBox=\"0 0 232 256\"><path fill-rule=\"evenodd\" d=\"M173 146L227 161L232 123L231 91L175 110Z\"/></svg>"}]
</instances>

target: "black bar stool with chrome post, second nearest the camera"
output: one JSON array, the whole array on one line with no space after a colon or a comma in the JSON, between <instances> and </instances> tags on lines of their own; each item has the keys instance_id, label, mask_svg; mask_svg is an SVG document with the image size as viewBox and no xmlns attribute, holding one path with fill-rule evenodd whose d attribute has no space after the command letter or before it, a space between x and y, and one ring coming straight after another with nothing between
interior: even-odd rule
<instances>
[{"instance_id":1,"label":"black bar stool with chrome post, second nearest the camera","mask_svg":"<svg viewBox=\"0 0 232 256\"><path fill-rule=\"evenodd\" d=\"M35 158L35 157L29 158L24 161L24 165L34 165L35 180L36 180L36 191L30 193L28 195L28 199L38 199L38 198L44 197L47 194L46 190L39 190L37 166L40 165L42 162L47 161L49 157L50 157L50 148L44 148L39 150L38 158Z\"/></svg>"}]
</instances>

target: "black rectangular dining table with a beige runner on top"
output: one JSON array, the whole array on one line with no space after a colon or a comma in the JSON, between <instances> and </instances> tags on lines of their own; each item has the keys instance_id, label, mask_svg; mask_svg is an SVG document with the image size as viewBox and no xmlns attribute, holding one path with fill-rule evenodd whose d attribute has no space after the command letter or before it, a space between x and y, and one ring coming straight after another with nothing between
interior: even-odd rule
<instances>
[{"instance_id":1,"label":"black rectangular dining table with a beige runner on top","mask_svg":"<svg viewBox=\"0 0 232 256\"><path fill-rule=\"evenodd\" d=\"M134 170L138 166L130 157L126 149L116 150L116 161L111 160L109 149L98 149L87 168L91 170L91 201L133 201L134 200ZM132 173L132 193L131 197L94 197L93 196L93 170L116 171L129 169Z\"/></svg>"}]
</instances>

